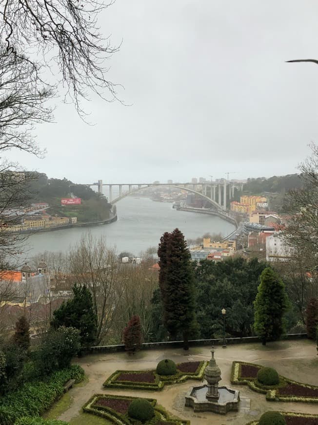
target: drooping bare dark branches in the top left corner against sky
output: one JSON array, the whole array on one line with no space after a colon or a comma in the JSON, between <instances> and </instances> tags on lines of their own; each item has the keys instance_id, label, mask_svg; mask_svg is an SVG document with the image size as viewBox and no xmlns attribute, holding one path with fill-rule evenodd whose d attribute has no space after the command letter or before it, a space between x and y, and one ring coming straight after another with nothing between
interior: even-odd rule
<instances>
[{"instance_id":1,"label":"drooping bare dark branches in the top left corner against sky","mask_svg":"<svg viewBox=\"0 0 318 425\"><path fill-rule=\"evenodd\" d=\"M66 87L78 110L88 91L106 100L116 98L115 85L106 79L105 62L118 47L99 31L99 13L112 4L98 0L5 0L0 4L1 42L8 52L25 52L28 61L42 56Z\"/></svg>"}]
</instances>

